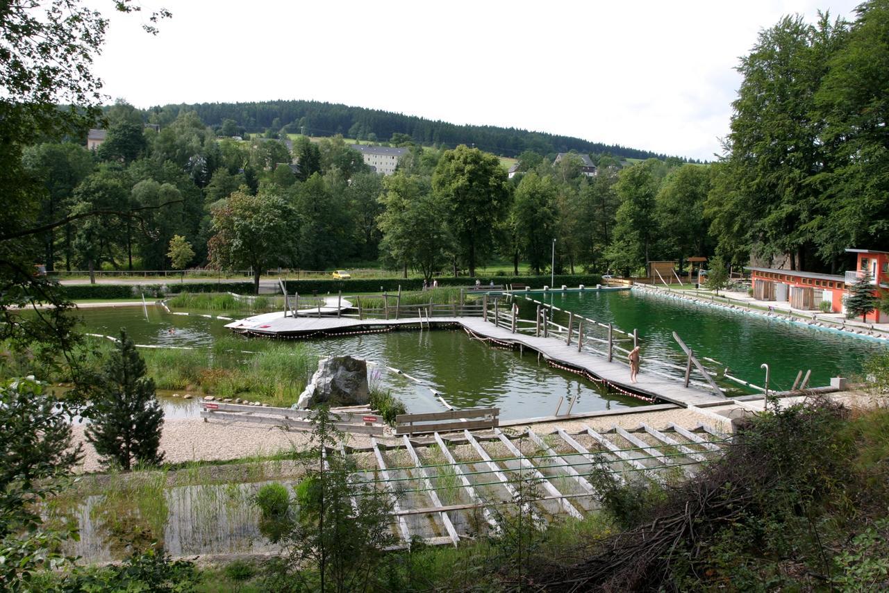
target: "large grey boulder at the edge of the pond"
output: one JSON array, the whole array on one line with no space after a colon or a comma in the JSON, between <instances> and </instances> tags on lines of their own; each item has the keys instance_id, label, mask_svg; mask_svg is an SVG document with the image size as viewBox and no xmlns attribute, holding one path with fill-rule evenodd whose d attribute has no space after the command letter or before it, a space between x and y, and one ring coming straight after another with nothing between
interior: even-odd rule
<instances>
[{"instance_id":1,"label":"large grey boulder at the edge of the pond","mask_svg":"<svg viewBox=\"0 0 889 593\"><path fill-rule=\"evenodd\" d=\"M370 398L367 387L367 362L353 357L329 357L318 361L305 391L294 407L305 409L316 404L359 405Z\"/></svg>"}]
</instances>

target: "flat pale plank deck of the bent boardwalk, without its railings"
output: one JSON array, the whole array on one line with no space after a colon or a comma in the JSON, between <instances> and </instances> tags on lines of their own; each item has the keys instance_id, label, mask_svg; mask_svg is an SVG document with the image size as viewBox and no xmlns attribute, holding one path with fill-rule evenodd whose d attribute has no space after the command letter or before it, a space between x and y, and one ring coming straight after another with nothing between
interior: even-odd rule
<instances>
[{"instance_id":1,"label":"flat pale plank deck of the bent boardwalk, without its railings","mask_svg":"<svg viewBox=\"0 0 889 593\"><path fill-rule=\"evenodd\" d=\"M459 325L477 338L499 342L502 345L520 346L541 353L545 359L589 373L614 388L652 397L671 404L707 405L727 401L707 389L694 385L684 387L679 379L673 380L661 373L640 370L636 383L629 381L629 366L614 357L605 357L579 351L576 344L566 344L557 337L538 337L526 333L513 333L511 329L494 325L482 317L402 317L399 319L357 319L355 317L284 317L283 312L268 313L240 319L226 327L249 335L300 339L349 333L386 332L398 326Z\"/></svg>"}]
</instances>

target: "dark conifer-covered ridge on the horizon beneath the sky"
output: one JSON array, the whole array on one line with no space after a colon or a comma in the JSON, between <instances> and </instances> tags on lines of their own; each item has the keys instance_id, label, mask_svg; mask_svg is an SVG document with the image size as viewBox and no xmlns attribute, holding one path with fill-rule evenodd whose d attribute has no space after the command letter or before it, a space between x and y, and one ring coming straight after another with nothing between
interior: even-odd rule
<instances>
[{"instance_id":1,"label":"dark conifer-covered ridge on the horizon beneath the sky","mask_svg":"<svg viewBox=\"0 0 889 593\"><path fill-rule=\"evenodd\" d=\"M611 153L624 158L666 158L648 150L590 142L571 136L528 132L493 125L457 125L425 117L349 107L313 100L273 100L252 103L196 103L165 105L148 109L152 124L170 124L180 113L194 111L205 124L219 129L231 120L245 132L302 133L308 136L342 134L356 140L388 141L393 134L406 134L414 142L455 148L475 145L500 156L518 156L525 150L541 155L575 150L581 153Z\"/></svg>"}]
</instances>

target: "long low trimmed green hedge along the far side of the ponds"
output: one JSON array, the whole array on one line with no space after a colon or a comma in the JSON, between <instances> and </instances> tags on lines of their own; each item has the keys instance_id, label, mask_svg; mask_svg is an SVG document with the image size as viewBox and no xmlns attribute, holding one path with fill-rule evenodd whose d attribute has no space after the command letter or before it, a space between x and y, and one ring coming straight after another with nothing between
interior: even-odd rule
<instances>
[{"instance_id":1,"label":"long low trimmed green hedge along the far side of the ponds","mask_svg":"<svg viewBox=\"0 0 889 593\"><path fill-rule=\"evenodd\" d=\"M532 288L549 286L550 276L477 276L483 286L491 284L506 286L507 284L525 284ZM476 278L469 276L437 278L439 286L471 286ZM317 292L396 292L398 286L403 291L419 291L423 287L421 278L350 278L348 280L287 280L287 292L310 294ZM596 286L602 284L602 276L596 275L560 275L552 281L553 286L562 284L576 287L578 284ZM67 284L63 286L65 296L73 301L77 299L132 299L144 293L146 297L160 298L167 294L179 292L237 292L252 294L252 282L170 282L168 284Z\"/></svg>"}]
</instances>

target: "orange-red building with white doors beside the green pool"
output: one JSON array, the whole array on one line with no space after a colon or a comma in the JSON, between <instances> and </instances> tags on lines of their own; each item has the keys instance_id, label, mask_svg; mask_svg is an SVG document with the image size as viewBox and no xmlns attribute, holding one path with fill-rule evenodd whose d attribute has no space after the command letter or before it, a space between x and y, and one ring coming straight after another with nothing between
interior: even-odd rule
<instances>
[{"instance_id":1,"label":"orange-red building with white doors beside the green pool","mask_svg":"<svg viewBox=\"0 0 889 593\"><path fill-rule=\"evenodd\" d=\"M793 309L820 310L821 302L830 303L833 313L845 313L843 301L849 289L865 272L874 285L889 288L889 252L868 249L847 249L857 253L855 269L843 276L801 272L776 268L747 268L753 280L753 298L759 301L789 302ZM870 323L889 323L889 314L883 311L869 313Z\"/></svg>"}]
</instances>

